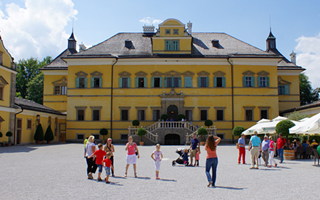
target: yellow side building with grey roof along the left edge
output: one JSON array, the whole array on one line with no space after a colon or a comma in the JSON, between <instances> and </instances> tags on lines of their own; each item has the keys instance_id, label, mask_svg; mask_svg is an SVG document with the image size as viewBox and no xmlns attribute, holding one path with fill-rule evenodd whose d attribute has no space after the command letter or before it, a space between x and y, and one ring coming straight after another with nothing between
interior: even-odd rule
<instances>
[{"instance_id":1,"label":"yellow side building with grey roof along the left edge","mask_svg":"<svg viewBox=\"0 0 320 200\"><path fill-rule=\"evenodd\" d=\"M0 144L34 142L33 136L39 123L44 132L51 125L54 142L63 140L66 116L34 101L15 97L16 74L14 59L0 36ZM7 137L7 132L13 133L12 136Z\"/></svg>"}]
</instances>

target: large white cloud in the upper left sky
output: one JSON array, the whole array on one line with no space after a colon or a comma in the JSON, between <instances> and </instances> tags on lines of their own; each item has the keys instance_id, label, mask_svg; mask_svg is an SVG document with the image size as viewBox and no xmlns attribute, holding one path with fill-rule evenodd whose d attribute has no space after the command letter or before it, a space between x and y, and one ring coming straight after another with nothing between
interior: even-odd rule
<instances>
[{"instance_id":1,"label":"large white cloud in the upper left sky","mask_svg":"<svg viewBox=\"0 0 320 200\"><path fill-rule=\"evenodd\" d=\"M65 49L71 30L66 33L64 28L78 13L73 6L72 0L25 0L24 7L6 4L7 14L0 10L0 34L15 61L55 57Z\"/></svg>"}]
</instances>

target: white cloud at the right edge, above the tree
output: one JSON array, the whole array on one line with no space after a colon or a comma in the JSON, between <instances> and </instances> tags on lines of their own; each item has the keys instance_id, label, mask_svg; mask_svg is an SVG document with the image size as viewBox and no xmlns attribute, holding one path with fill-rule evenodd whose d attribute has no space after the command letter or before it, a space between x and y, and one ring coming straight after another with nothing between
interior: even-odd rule
<instances>
[{"instance_id":1,"label":"white cloud at the right edge, above the tree","mask_svg":"<svg viewBox=\"0 0 320 200\"><path fill-rule=\"evenodd\" d=\"M312 88L320 87L320 33L315 37L301 36L296 41L297 65L306 69Z\"/></svg>"}]
</instances>

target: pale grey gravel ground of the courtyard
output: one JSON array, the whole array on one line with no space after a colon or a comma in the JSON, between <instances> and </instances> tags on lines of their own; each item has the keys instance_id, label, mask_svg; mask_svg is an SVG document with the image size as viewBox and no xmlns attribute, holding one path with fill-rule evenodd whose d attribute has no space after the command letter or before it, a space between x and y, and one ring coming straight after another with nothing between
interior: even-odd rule
<instances>
[{"instance_id":1,"label":"pale grey gravel ground of the courtyard","mask_svg":"<svg viewBox=\"0 0 320 200\"><path fill-rule=\"evenodd\" d=\"M82 144L1 147L0 199L320 199L320 168L313 159L249 170L248 151L248 164L238 165L235 146L220 145L217 187L208 188L203 147L200 167L172 167L179 147L184 146L161 147L161 180L155 180L150 158L154 146L139 146L138 178L131 166L124 178L126 152L123 145L115 145L116 177L110 177L110 185L87 179Z\"/></svg>"}]
</instances>

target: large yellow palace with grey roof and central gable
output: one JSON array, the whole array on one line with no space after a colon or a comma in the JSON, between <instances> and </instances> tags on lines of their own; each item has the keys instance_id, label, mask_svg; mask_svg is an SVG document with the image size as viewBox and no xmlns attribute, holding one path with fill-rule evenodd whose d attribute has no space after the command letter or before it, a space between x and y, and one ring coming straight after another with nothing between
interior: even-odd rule
<instances>
[{"instance_id":1,"label":"large yellow palace with grey roof and central gable","mask_svg":"<svg viewBox=\"0 0 320 200\"><path fill-rule=\"evenodd\" d=\"M86 49L72 33L68 48L44 73L44 106L67 114L67 141L82 141L102 128L115 142L146 127L146 142L184 144L210 119L216 134L299 106L295 54L287 60L270 32L266 50L226 33L192 32L176 19L155 30L118 33ZM161 121L167 114L169 121ZM185 121L177 122L183 114ZM173 120L173 122L170 122Z\"/></svg>"}]
</instances>

